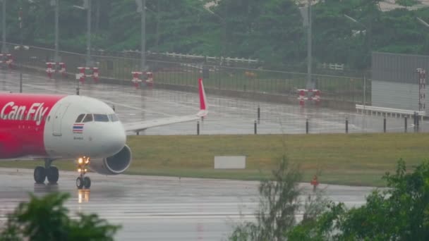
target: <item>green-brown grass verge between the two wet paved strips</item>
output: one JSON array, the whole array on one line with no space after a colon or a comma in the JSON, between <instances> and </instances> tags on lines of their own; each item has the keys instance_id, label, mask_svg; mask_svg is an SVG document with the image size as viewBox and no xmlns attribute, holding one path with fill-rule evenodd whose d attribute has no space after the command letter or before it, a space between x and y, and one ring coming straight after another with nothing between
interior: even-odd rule
<instances>
[{"instance_id":1,"label":"green-brown grass verge between the two wet paved strips","mask_svg":"<svg viewBox=\"0 0 429 241\"><path fill-rule=\"evenodd\" d=\"M126 171L138 175L259 180L283 154L298 163L303 181L321 170L322 183L385 185L381 179L402 158L407 166L428 159L428 134L332 135L179 135L132 136L133 164ZM214 170L214 156L247 156L245 170ZM38 161L1 161L2 167L34 168ZM74 170L73 161L56 161L61 170Z\"/></svg>"}]
</instances>

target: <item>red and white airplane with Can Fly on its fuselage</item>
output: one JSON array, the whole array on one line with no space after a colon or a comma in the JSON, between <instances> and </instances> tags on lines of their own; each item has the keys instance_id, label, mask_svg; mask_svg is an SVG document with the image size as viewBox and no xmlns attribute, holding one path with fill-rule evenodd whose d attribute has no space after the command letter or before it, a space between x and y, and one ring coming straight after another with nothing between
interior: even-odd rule
<instances>
[{"instance_id":1,"label":"red and white airplane with Can Fly on its fuselage","mask_svg":"<svg viewBox=\"0 0 429 241\"><path fill-rule=\"evenodd\" d=\"M208 113L203 80L198 80L200 111L191 116L121 123L103 101L80 95L0 94L0 159L43 159L34 170L35 183L59 180L52 161L75 159L78 189L89 189L87 168L118 175L131 165L127 132L204 118Z\"/></svg>"}]
</instances>

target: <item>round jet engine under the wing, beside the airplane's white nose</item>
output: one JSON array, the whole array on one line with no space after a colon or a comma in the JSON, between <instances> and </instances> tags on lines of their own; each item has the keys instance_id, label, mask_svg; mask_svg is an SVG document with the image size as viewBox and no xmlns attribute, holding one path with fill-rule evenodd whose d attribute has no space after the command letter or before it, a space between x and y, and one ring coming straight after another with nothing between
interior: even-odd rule
<instances>
[{"instance_id":1,"label":"round jet engine under the wing, beside the airplane's white nose","mask_svg":"<svg viewBox=\"0 0 429 241\"><path fill-rule=\"evenodd\" d=\"M91 159L90 169L104 175L118 175L131 165L131 149L125 145L120 152L104 159Z\"/></svg>"}]
</instances>

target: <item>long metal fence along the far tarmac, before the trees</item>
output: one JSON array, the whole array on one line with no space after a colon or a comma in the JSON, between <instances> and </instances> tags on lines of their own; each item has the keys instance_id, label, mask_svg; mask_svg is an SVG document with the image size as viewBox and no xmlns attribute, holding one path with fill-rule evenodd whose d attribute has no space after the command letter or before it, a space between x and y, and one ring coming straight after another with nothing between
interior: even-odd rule
<instances>
[{"instance_id":1,"label":"long metal fence along the far tarmac, before the trees","mask_svg":"<svg viewBox=\"0 0 429 241\"><path fill-rule=\"evenodd\" d=\"M13 44L11 44L13 45ZM13 46L9 47L13 49ZM30 47L28 50L13 50L16 62L36 68L47 68L46 62L52 62L53 49ZM107 55L109 54L109 56ZM78 67L85 66L85 54L60 51L61 61L66 63L68 73L78 73ZM140 59L138 54L123 52L116 56L105 51L93 51L92 61L99 68L101 78L129 80L132 71L138 71ZM264 94L281 94L298 97L297 89L306 88L306 73L282 72L246 68L246 66L224 66L207 61L188 61L182 58L169 60L168 56L148 55L147 66L154 73L155 83L181 86L196 86L198 78L205 78L207 88L253 92ZM220 61L219 61L220 63ZM323 100L349 101L352 104L371 102L371 81L362 77L341 75L313 75L315 87L321 91ZM365 87L365 88L364 88ZM366 94L365 94L366 92Z\"/></svg>"}]
</instances>

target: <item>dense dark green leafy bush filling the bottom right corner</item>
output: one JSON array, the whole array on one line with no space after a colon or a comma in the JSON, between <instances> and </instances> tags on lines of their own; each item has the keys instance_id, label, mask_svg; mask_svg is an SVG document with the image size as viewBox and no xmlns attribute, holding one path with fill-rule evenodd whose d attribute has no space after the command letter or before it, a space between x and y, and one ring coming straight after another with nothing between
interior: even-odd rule
<instances>
[{"instance_id":1,"label":"dense dark green leafy bush filling the bottom right corner","mask_svg":"<svg viewBox=\"0 0 429 241\"><path fill-rule=\"evenodd\" d=\"M428 240L429 162L409 173L401 160L384 179L387 190L375 190L363 206L331 204L312 223L291 230L288 240Z\"/></svg>"}]
</instances>

